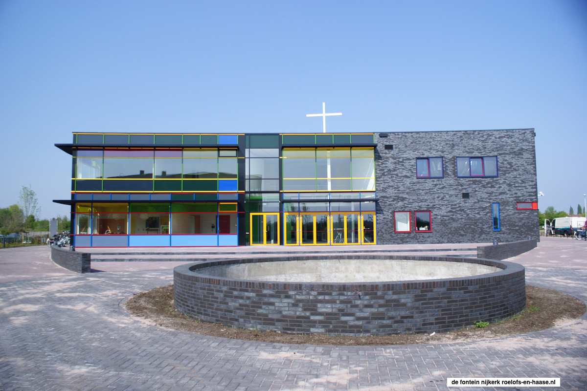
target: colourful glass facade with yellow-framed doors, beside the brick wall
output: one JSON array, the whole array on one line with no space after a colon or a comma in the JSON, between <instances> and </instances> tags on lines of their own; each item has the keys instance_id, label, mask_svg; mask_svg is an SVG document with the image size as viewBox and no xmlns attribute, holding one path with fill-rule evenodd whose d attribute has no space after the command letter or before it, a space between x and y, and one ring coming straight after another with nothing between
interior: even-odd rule
<instances>
[{"instance_id":1,"label":"colourful glass facade with yellow-framed doors, beside the brick wall","mask_svg":"<svg viewBox=\"0 0 587 391\"><path fill-rule=\"evenodd\" d=\"M75 247L375 244L362 134L75 133Z\"/></svg>"}]
</instances>

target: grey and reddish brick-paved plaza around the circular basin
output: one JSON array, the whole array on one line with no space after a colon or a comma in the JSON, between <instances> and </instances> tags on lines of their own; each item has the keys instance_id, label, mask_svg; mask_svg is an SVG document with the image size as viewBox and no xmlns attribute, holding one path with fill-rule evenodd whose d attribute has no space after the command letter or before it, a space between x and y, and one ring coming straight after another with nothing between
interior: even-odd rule
<instances>
[{"instance_id":1,"label":"grey and reddish brick-paved plaza around the circular basin","mask_svg":"<svg viewBox=\"0 0 587 391\"><path fill-rule=\"evenodd\" d=\"M543 237L508 261L526 267L528 284L587 302L587 242ZM587 389L587 315L483 341L313 346L190 334L124 310L131 295L173 283L183 263L101 261L76 274L47 247L1 249L0 389L447 390L447 378L464 377L557 377L560 389Z\"/></svg>"}]
</instances>

